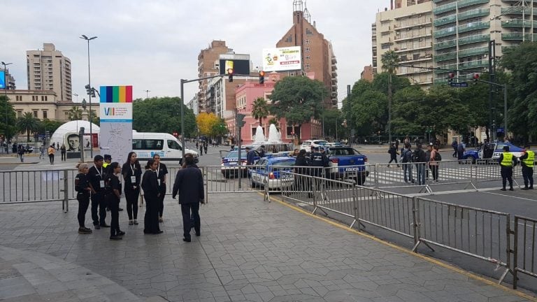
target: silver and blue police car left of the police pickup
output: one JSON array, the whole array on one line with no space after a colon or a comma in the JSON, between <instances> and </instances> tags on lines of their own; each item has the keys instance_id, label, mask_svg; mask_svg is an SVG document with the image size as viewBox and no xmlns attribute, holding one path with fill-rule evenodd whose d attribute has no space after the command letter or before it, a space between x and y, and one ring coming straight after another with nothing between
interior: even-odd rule
<instances>
[{"instance_id":1,"label":"silver and blue police car left of the police pickup","mask_svg":"<svg viewBox=\"0 0 537 302\"><path fill-rule=\"evenodd\" d=\"M248 180L252 187L268 187L279 189L293 185L292 166L294 157L273 156L263 157L248 169Z\"/></svg>"}]
</instances>

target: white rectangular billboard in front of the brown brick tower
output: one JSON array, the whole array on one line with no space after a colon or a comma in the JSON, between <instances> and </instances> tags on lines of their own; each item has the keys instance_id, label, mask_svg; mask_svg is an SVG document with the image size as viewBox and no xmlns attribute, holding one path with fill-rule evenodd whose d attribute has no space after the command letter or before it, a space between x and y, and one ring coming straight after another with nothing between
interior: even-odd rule
<instances>
[{"instance_id":1,"label":"white rectangular billboard in front of the brown brick tower","mask_svg":"<svg viewBox=\"0 0 537 302\"><path fill-rule=\"evenodd\" d=\"M263 50L264 71L290 71L302 69L300 46L265 48Z\"/></svg>"}]
</instances>

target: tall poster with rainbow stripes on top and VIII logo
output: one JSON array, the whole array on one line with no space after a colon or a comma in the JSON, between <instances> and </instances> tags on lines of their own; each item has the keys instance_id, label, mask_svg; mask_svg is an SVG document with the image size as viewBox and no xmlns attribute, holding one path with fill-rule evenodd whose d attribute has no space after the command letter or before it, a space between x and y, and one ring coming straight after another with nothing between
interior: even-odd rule
<instances>
[{"instance_id":1,"label":"tall poster with rainbow stripes on top and VIII logo","mask_svg":"<svg viewBox=\"0 0 537 302\"><path fill-rule=\"evenodd\" d=\"M125 162L132 150L132 86L101 86L101 155Z\"/></svg>"}]
</instances>

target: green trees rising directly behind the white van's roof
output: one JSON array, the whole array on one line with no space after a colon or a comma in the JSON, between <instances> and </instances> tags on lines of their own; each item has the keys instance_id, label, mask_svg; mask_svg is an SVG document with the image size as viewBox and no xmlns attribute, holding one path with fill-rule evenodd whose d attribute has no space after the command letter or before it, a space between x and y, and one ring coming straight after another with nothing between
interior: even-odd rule
<instances>
[{"instance_id":1,"label":"green trees rising directly behind the white van's roof","mask_svg":"<svg viewBox=\"0 0 537 302\"><path fill-rule=\"evenodd\" d=\"M133 129L140 132L173 133L181 131L181 111L185 114L185 136L195 136L196 117L178 97L165 96L150 99L136 99L132 103Z\"/></svg>"}]
</instances>

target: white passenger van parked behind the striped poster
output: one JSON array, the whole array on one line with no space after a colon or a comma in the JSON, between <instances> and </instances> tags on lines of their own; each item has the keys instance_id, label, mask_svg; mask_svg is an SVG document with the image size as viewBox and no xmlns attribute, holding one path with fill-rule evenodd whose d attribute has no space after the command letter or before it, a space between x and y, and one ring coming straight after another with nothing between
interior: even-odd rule
<instances>
[{"instance_id":1,"label":"white passenger van parked behind the striped poster","mask_svg":"<svg viewBox=\"0 0 537 302\"><path fill-rule=\"evenodd\" d=\"M182 163L181 142L173 135L156 132L132 131L132 150L136 152L139 160L152 159L153 155L159 154L162 161L179 161ZM194 154L196 163L198 152L185 149L185 154Z\"/></svg>"}]
</instances>

